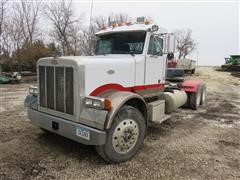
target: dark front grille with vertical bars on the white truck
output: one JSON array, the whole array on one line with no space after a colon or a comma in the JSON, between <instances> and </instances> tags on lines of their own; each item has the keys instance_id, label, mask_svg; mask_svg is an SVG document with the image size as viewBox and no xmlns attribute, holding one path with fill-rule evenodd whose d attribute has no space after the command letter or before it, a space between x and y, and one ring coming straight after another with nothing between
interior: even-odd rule
<instances>
[{"instance_id":1,"label":"dark front grille with vertical bars on the white truck","mask_svg":"<svg viewBox=\"0 0 240 180\"><path fill-rule=\"evenodd\" d=\"M40 106L73 114L73 68L39 66Z\"/></svg>"}]
</instances>

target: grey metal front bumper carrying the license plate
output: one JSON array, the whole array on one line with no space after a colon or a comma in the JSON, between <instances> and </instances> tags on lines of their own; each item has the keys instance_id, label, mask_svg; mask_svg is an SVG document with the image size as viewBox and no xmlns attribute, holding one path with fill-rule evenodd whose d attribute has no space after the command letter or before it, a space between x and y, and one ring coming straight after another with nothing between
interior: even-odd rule
<instances>
[{"instance_id":1,"label":"grey metal front bumper carrying the license plate","mask_svg":"<svg viewBox=\"0 0 240 180\"><path fill-rule=\"evenodd\" d=\"M85 126L76 122L65 120L63 118L55 117L37 110L28 108L28 117L32 124L44 128L53 133L59 134L66 138L72 139L86 145L103 145L106 140L106 132ZM88 138L77 135L77 130L89 133Z\"/></svg>"}]
</instances>

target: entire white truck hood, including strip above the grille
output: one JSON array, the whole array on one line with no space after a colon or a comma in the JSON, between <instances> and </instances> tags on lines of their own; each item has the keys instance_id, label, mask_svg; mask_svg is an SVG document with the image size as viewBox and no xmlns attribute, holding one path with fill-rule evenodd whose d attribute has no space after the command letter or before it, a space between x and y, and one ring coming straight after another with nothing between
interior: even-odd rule
<instances>
[{"instance_id":1,"label":"entire white truck hood, including strip above the grille","mask_svg":"<svg viewBox=\"0 0 240 180\"><path fill-rule=\"evenodd\" d=\"M63 56L48 57L38 61L38 66L72 66L75 84L80 86L80 95L97 96L101 89L132 87L135 84L135 62L132 55ZM104 88L103 88L104 86ZM100 89L100 90L99 90ZM96 93L97 92L97 93Z\"/></svg>"}]
</instances>

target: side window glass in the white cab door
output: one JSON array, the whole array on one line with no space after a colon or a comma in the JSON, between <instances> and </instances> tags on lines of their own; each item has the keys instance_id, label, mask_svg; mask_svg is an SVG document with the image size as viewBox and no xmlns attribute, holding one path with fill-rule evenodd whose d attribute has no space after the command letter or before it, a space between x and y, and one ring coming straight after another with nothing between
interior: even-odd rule
<instances>
[{"instance_id":1,"label":"side window glass in the white cab door","mask_svg":"<svg viewBox=\"0 0 240 180\"><path fill-rule=\"evenodd\" d=\"M162 52L163 52L163 39L151 36L148 47L148 54L161 55Z\"/></svg>"}]
</instances>

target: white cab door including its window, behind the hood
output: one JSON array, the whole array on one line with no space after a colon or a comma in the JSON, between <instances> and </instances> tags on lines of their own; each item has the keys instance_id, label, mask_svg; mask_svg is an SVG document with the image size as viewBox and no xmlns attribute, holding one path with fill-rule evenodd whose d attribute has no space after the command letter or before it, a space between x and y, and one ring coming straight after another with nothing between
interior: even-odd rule
<instances>
[{"instance_id":1,"label":"white cab door including its window, behind the hood","mask_svg":"<svg viewBox=\"0 0 240 180\"><path fill-rule=\"evenodd\" d=\"M164 83L165 61L166 59L163 56L163 38L151 35L146 55L146 85Z\"/></svg>"}]
</instances>

